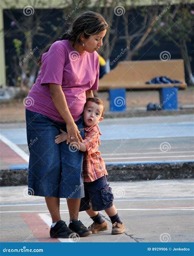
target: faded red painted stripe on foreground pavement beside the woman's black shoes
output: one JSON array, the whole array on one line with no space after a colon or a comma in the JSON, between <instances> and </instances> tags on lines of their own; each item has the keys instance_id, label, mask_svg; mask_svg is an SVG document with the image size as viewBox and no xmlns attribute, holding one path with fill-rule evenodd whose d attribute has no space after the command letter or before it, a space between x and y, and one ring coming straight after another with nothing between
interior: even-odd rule
<instances>
[{"instance_id":1,"label":"faded red painted stripe on foreground pavement beside the woman's black shoes","mask_svg":"<svg viewBox=\"0 0 194 256\"><path fill-rule=\"evenodd\" d=\"M57 238L50 238L50 227L43 221L38 213L20 213L20 216L31 229L32 234L34 234L40 242L60 242ZM30 242L30 238L32 238L32 236L29 236L27 242Z\"/></svg>"}]
</instances>

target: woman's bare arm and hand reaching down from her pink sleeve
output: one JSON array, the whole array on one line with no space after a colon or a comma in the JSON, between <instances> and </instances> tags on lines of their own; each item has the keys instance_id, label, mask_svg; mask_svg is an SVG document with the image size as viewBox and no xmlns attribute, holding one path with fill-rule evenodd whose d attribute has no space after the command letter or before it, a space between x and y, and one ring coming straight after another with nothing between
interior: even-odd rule
<instances>
[{"instance_id":1,"label":"woman's bare arm and hand reaching down from her pink sleeve","mask_svg":"<svg viewBox=\"0 0 194 256\"><path fill-rule=\"evenodd\" d=\"M80 131L77 128L77 125L75 124L72 118L72 115L70 113L70 110L68 108L68 104L67 104L65 95L63 93L63 90L61 88L61 85L49 84L49 88L50 88L50 94L51 94L54 106L56 107L57 111L60 113L60 115L66 122L67 131L68 131L67 143L70 143L72 141L79 143L79 140L83 142L81 135L79 134ZM71 140L70 139L71 137L73 137L74 139Z\"/></svg>"}]
</instances>

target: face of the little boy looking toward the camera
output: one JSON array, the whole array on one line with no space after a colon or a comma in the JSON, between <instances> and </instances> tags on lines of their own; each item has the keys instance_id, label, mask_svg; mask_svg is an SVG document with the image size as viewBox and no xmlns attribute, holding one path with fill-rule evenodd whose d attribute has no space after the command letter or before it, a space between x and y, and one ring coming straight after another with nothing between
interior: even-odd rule
<instances>
[{"instance_id":1,"label":"face of the little boy looking toward the camera","mask_svg":"<svg viewBox=\"0 0 194 256\"><path fill-rule=\"evenodd\" d=\"M98 122L102 121L102 111L104 107L98 105L95 102L88 101L83 111L83 121L86 126L96 125Z\"/></svg>"}]
</instances>

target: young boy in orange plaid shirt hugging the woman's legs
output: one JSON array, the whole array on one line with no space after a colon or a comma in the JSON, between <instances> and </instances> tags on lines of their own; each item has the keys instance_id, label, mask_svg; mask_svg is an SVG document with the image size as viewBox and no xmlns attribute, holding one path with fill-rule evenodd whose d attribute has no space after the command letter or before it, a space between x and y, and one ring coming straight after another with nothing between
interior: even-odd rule
<instances>
[{"instance_id":1,"label":"young boy in orange plaid shirt hugging the woman's legs","mask_svg":"<svg viewBox=\"0 0 194 256\"><path fill-rule=\"evenodd\" d=\"M111 219L112 234L114 235L124 232L124 224L122 224L113 204L113 193L106 178L108 173L98 150L101 133L97 125L103 120L103 115L104 103L102 100L97 97L87 98L83 110L85 137L83 143L80 142L79 145L72 143L72 145L77 150L85 152L83 157L85 197L81 198L79 211L88 213L94 221L88 229L92 233L98 233L108 229L106 221L98 213L98 211L104 210ZM62 131L62 134L56 136L55 142L58 144L65 140L67 140L67 133Z\"/></svg>"}]
</instances>

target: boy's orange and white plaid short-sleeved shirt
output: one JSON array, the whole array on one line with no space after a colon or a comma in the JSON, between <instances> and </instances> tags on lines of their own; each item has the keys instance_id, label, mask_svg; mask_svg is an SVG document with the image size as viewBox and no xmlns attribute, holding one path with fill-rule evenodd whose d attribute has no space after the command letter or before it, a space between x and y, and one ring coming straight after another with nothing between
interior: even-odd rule
<instances>
[{"instance_id":1,"label":"boy's orange and white plaid short-sleeved shirt","mask_svg":"<svg viewBox=\"0 0 194 256\"><path fill-rule=\"evenodd\" d=\"M85 137L83 143L86 146L86 152L83 156L83 181L95 181L107 175L104 160L100 155L98 147L100 145L99 135L102 135L97 125L85 127Z\"/></svg>"}]
</instances>

